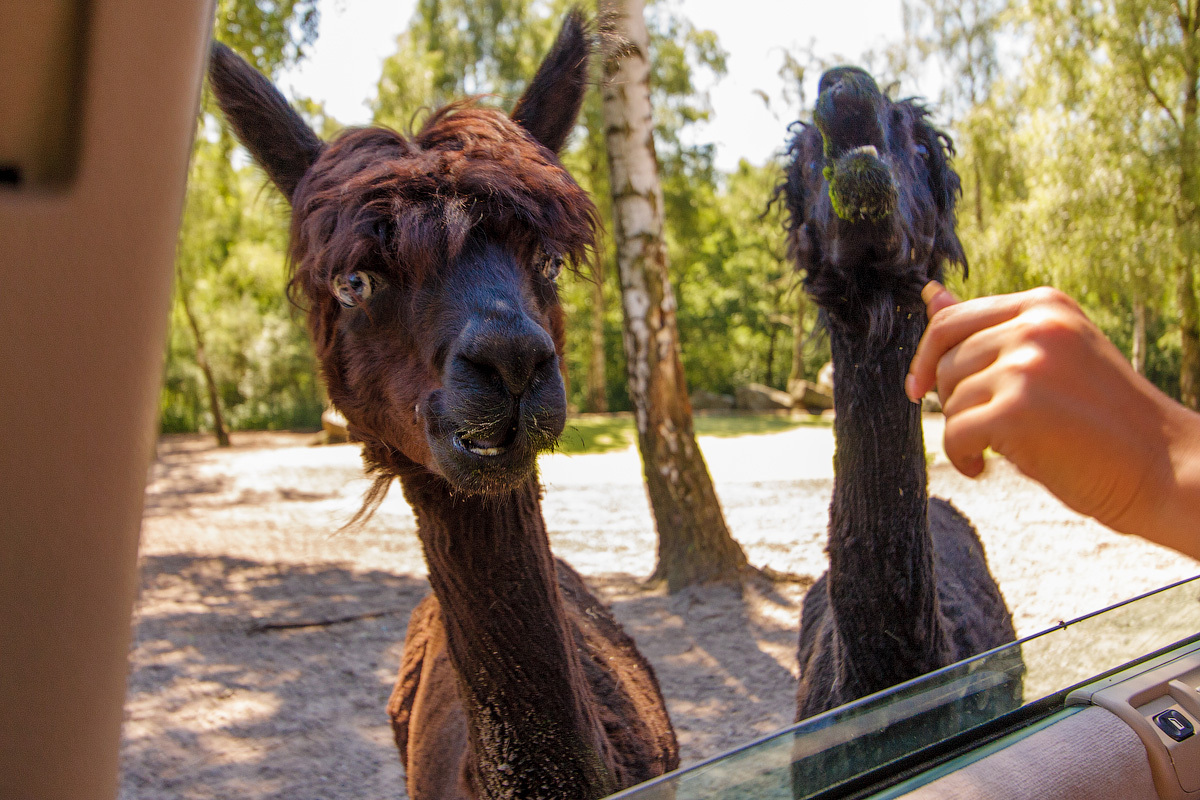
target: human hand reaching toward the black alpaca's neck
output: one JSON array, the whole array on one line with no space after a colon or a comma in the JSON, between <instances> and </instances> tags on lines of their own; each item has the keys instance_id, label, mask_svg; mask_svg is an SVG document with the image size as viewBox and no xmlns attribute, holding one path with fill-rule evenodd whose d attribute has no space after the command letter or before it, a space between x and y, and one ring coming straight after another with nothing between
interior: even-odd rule
<instances>
[{"instance_id":1,"label":"human hand reaching toward the black alpaca's neck","mask_svg":"<svg viewBox=\"0 0 1200 800\"><path fill-rule=\"evenodd\" d=\"M1200 417L1136 374L1061 291L959 302L935 282L922 296L930 323L905 390L919 401L936 381L946 453L962 474L978 476L991 447L1072 509L1194 552L1150 529L1183 531L1200 512L1177 507L1181 476L1200 471Z\"/></svg>"}]
</instances>

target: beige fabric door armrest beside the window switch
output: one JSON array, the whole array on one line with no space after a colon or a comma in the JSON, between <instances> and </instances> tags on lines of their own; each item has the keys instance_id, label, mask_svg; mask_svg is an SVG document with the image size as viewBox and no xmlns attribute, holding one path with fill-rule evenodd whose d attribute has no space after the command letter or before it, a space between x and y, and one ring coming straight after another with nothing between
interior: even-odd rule
<instances>
[{"instance_id":1,"label":"beige fabric door armrest beside the window switch","mask_svg":"<svg viewBox=\"0 0 1200 800\"><path fill-rule=\"evenodd\" d=\"M1102 708L1043 728L904 800L1158 800L1141 739Z\"/></svg>"}]
</instances>

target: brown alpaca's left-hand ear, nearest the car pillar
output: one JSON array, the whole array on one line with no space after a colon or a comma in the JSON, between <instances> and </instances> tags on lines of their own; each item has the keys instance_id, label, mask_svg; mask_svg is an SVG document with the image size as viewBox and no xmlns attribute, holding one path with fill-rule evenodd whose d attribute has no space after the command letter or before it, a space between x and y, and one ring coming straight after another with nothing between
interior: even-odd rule
<instances>
[{"instance_id":1,"label":"brown alpaca's left-hand ear, nearest the car pillar","mask_svg":"<svg viewBox=\"0 0 1200 800\"><path fill-rule=\"evenodd\" d=\"M238 139L290 201L320 139L270 80L221 42L212 42L209 85Z\"/></svg>"}]
</instances>

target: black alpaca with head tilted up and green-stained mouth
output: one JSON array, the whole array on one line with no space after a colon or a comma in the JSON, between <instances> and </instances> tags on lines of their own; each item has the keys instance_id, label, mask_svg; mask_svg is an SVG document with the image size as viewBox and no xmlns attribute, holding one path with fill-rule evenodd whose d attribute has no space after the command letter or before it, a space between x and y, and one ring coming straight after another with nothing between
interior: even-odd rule
<instances>
[{"instance_id":1,"label":"black alpaca with head tilted up and green-stained mouth","mask_svg":"<svg viewBox=\"0 0 1200 800\"><path fill-rule=\"evenodd\" d=\"M829 570L804 599L798 720L1015 638L974 528L929 498L920 407L904 391L922 287L947 261L966 270L953 145L922 106L853 67L821 77L814 121L780 186L835 377ZM1019 702L1015 661L985 702Z\"/></svg>"}]
</instances>

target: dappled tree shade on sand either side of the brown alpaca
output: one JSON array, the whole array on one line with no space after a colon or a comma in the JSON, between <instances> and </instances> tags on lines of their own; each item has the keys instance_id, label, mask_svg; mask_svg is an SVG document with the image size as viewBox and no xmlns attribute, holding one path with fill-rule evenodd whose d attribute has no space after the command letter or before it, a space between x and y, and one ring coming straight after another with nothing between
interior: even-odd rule
<instances>
[{"instance_id":1,"label":"dappled tree shade on sand either side of the brown alpaca","mask_svg":"<svg viewBox=\"0 0 1200 800\"><path fill-rule=\"evenodd\" d=\"M686 760L790 721L794 678L768 650L794 652L793 602L589 583L654 663ZM144 558L121 800L403 798L384 708L427 591L340 564Z\"/></svg>"}]
</instances>

